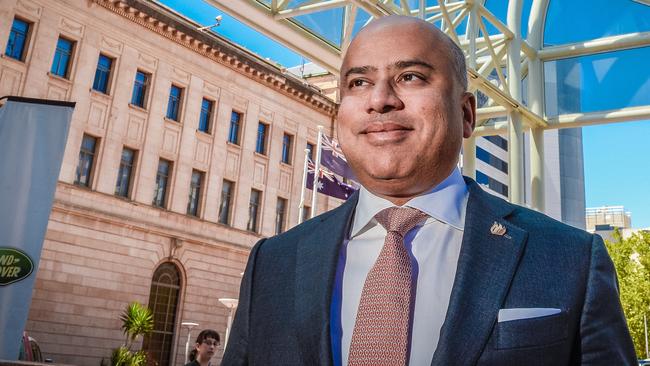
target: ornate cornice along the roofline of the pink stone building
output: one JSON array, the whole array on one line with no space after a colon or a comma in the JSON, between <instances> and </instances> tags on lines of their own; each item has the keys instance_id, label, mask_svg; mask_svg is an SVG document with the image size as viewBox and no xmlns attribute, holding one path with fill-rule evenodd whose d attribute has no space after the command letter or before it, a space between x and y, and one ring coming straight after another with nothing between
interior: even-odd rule
<instances>
[{"instance_id":1,"label":"ornate cornice along the roofline of the pink stone building","mask_svg":"<svg viewBox=\"0 0 650 366\"><path fill-rule=\"evenodd\" d=\"M196 30L199 24L153 1L92 2L325 115L336 115L337 104L316 87L214 33Z\"/></svg>"}]
</instances>

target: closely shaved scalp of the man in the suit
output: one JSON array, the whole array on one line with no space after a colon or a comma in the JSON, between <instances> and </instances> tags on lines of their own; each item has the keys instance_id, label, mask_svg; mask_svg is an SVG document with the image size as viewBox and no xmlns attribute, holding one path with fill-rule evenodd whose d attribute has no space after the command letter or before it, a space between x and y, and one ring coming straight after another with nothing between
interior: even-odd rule
<instances>
[{"instance_id":1,"label":"closely shaved scalp of the man in the suit","mask_svg":"<svg viewBox=\"0 0 650 366\"><path fill-rule=\"evenodd\" d=\"M399 15L379 18L372 21L359 31L350 43L345 57L343 58L343 64L341 66L342 78L345 73L348 72L347 68L349 67L349 64L347 63L347 59L350 52L360 45L361 47L364 47L367 43L381 42L381 38L378 38L377 35L386 31L408 32L407 34L410 34L411 37L424 37L430 41L432 50L439 49L440 47L445 48L446 52L444 53L448 56L448 61L452 66L454 77L460 83L462 89L467 90L465 55L460 47L458 47L451 38L435 25L418 18Z\"/></svg>"}]
</instances>

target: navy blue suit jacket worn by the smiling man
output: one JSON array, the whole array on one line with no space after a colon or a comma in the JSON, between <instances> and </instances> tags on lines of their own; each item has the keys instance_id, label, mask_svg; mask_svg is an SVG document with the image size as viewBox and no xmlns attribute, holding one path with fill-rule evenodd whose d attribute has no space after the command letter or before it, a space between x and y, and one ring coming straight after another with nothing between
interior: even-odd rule
<instances>
[{"instance_id":1,"label":"navy blue suit jacket worn by the smiling man","mask_svg":"<svg viewBox=\"0 0 650 366\"><path fill-rule=\"evenodd\" d=\"M431 365L636 364L602 239L466 181L458 268ZM222 365L332 364L332 288L356 202L254 246ZM490 233L494 222L505 235ZM504 308L562 311L499 323Z\"/></svg>"}]
</instances>

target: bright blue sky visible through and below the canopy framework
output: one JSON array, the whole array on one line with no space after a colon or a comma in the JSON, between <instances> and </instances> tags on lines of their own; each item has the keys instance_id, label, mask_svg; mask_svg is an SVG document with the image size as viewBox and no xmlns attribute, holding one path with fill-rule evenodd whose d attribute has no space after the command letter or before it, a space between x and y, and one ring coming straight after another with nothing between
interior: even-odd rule
<instances>
[{"instance_id":1,"label":"bright blue sky visible through and below the canopy framework","mask_svg":"<svg viewBox=\"0 0 650 366\"><path fill-rule=\"evenodd\" d=\"M237 19L215 9L202 0L159 0L201 24L214 23L223 16L222 25L213 30L264 58L286 66L309 62L286 47L243 25ZM238 0L239 1L239 0ZM524 0L524 19L532 0ZM588 6L585 6L587 5ZM507 1L487 0L486 7L505 19ZM582 16L576 16L582 12ZM337 24L340 13L332 10L299 19L330 42L340 42L340 29L323 24ZM355 29L361 28L367 14L358 16ZM612 11L610 0L550 1L544 33L546 45L579 42L597 37L635 31L650 31L650 6L631 0L617 1ZM524 36L526 27L522 27ZM492 33L493 29L488 27ZM596 111L631 105L650 104L650 47L602 54L566 62L579 64L581 74L576 87L583 91L576 111ZM647 64L646 64L647 65ZM633 72L634 71L634 72ZM568 83L570 84L570 83ZM565 85L566 88L572 85ZM612 92L612 90L616 92ZM623 122L590 126L583 129L585 192L587 207L623 205L632 213L634 227L650 227L650 163L647 150L650 121Z\"/></svg>"}]
</instances>

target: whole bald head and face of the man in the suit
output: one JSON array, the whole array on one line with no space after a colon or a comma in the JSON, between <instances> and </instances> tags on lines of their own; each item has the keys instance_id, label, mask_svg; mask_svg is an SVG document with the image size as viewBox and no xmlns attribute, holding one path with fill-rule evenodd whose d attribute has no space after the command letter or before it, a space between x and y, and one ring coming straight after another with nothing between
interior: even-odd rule
<instances>
[{"instance_id":1,"label":"whole bald head and face of the man in the suit","mask_svg":"<svg viewBox=\"0 0 650 366\"><path fill-rule=\"evenodd\" d=\"M465 57L432 24L381 18L341 66L338 136L359 182L402 205L442 182L474 129Z\"/></svg>"}]
</instances>

